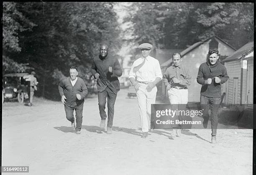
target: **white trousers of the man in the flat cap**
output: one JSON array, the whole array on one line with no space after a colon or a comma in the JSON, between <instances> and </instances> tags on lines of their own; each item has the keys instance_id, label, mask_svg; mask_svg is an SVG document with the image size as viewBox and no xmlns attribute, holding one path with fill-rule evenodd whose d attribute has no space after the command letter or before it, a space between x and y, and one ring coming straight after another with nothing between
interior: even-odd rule
<instances>
[{"instance_id":1,"label":"white trousers of the man in the flat cap","mask_svg":"<svg viewBox=\"0 0 256 175\"><path fill-rule=\"evenodd\" d=\"M139 83L141 86L136 92L140 119L141 119L141 130L142 132L148 132L148 128L150 127L151 121L151 104L156 102L156 86L148 92L146 90L147 84Z\"/></svg>"}]
</instances>

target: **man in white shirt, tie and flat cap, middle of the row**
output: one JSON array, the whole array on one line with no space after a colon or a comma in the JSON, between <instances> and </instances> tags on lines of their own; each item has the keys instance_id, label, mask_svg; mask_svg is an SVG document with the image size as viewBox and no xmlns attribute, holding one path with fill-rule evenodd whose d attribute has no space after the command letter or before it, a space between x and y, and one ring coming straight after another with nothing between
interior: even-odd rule
<instances>
[{"instance_id":1,"label":"man in white shirt, tie and flat cap, middle of the row","mask_svg":"<svg viewBox=\"0 0 256 175\"><path fill-rule=\"evenodd\" d=\"M129 79L138 98L142 138L146 138L150 127L151 104L156 101L156 84L161 81L162 73L159 61L149 56L151 43L142 43L138 48L141 49L141 58L133 62Z\"/></svg>"}]
</instances>

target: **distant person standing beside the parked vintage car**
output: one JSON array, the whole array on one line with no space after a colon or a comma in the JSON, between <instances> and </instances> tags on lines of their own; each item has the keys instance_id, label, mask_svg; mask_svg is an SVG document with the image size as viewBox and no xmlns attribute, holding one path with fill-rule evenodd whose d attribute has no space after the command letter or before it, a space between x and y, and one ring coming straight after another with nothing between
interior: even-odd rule
<instances>
[{"instance_id":1,"label":"distant person standing beside the parked vintage car","mask_svg":"<svg viewBox=\"0 0 256 175\"><path fill-rule=\"evenodd\" d=\"M30 75L24 76L23 79L25 79L25 81L30 81L29 84L29 102L28 102L28 106L32 106L33 104L33 96L34 96L34 92L37 91L37 79L35 77L36 72L32 71Z\"/></svg>"}]
</instances>

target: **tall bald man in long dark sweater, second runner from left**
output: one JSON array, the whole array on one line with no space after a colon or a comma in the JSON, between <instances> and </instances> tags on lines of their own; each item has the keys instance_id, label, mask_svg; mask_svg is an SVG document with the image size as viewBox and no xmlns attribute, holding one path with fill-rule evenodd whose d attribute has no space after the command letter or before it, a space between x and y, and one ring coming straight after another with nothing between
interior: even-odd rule
<instances>
[{"instance_id":1,"label":"tall bald man in long dark sweater, second runner from left","mask_svg":"<svg viewBox=\"0 0 256 175\"><path fill-rule=\"evenodd\" d=\"M112 134L115 99L120 90L118 76L121 76L123 71L119 61L108 55L107 44L101 44L100 54L93 59L91 72L95 79L98 80L98 101L101 117L100 127L105 128L107 118L105 105L108 96L107 134Z\"/></svg>"}]
</instances>

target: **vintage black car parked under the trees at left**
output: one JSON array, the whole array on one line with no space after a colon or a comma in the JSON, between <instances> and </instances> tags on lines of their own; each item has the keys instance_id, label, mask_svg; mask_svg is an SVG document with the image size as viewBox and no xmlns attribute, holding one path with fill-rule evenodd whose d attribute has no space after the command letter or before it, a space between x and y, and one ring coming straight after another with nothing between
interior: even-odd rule
<instances>
[{"instance_id":1,"label":"vintage black car parked under the trees at left","mask_svg":"<svg viewBox=\"0 0 256 175\"><path fill-rule=\"evenodd\" d=\"M28 76L28 73L11 73L3 75L3 89L2 94L4 100L18 99L20 103L23 103L24 99L28 99L28 81L23 79L24 76Z\"/></svg>"}]
</instances>

